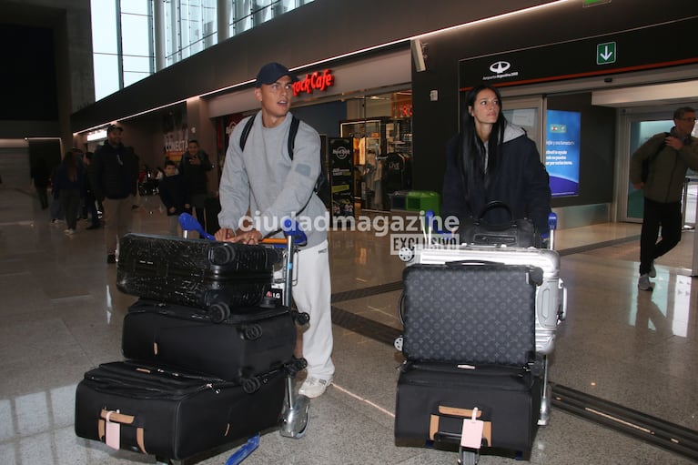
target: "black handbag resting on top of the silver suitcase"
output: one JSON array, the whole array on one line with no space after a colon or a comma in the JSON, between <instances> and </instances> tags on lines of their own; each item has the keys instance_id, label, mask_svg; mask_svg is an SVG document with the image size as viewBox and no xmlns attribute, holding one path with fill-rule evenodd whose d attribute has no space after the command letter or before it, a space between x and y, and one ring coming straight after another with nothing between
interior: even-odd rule
<instances>
[{"instance_id":1,"label":"black handbag resting on top of the silver suitcase","mask_svg":"<svg viewBox=\"0 0 698 465\"><path fill-rule=\"evenodd\" d=\"M509 212L510 220L501 224L492 224L483 219L494 208L504 208ZM541 247L541 236L535 225L528 218L514 219L511 207L500 200L488 203L482 208L478 217L460 220L458 229L461 244L475 246L506 247Z\"/></svg>"}]
</instances>

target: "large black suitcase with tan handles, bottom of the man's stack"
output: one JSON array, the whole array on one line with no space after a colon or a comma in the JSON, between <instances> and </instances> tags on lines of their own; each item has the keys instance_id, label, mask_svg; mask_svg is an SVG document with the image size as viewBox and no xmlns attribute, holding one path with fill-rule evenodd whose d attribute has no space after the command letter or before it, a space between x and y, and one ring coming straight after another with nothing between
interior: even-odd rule
<instances>
[{"instance_id":1,"label":"large black suitcase with tan handles, bottom of the man's stack","mask_svg":"<svg viewBox=\"0 0 698 465\"><path fill-rule=\"evenodd\" d=\"M76 435L115 449L184 460L278 424L286 371L258 390L132 362L87 371L76 389Z\"/></svg>"}]
</instances>

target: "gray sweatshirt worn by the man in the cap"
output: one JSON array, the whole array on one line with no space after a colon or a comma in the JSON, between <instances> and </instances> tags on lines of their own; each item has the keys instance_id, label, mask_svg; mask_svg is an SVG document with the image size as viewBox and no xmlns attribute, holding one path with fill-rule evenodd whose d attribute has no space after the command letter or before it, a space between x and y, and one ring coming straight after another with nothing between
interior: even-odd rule
<instances>
[{"instance_id":1,"label":"gray sweatshirt worn by the man in the cap","mask_svg":"<svg viewBox=\"0 0 698 465\"><path fill-rule=\"evenodd\" d=\"M313 247L327 238L329 213L313 193L320 169L318 132L301 121L298 126L293 160L288 157L288 131L291 114L276 127L262 125L261 111L249 132L245 150L240 150L240 134L247 119L230 135L223 175L220 179L218 223L238 229L246 214L264 237L282 237L284 218L293 217Z\"/></svg>"}]
</instances>

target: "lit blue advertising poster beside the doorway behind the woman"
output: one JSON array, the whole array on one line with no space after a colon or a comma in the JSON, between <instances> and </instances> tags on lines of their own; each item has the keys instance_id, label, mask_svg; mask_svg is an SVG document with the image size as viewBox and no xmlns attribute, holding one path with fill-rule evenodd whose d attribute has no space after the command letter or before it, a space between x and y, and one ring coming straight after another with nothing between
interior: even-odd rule
<instances>
[{"instance_id":1,"label":"lit blue advertising poster beside the doorway behind the woman","mask_svg":"<svg viewBox=\"0 0 698 465\"><path fill-rule=\"evenodd\" d=\"M551 177L552 197L579 195L581 115L548 110L545 128L545 167Z\"/></svg>"}]
</instances>

